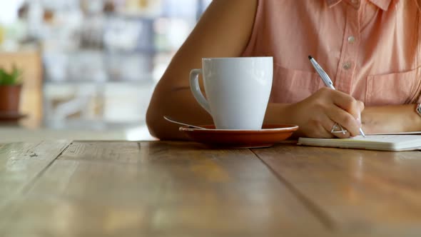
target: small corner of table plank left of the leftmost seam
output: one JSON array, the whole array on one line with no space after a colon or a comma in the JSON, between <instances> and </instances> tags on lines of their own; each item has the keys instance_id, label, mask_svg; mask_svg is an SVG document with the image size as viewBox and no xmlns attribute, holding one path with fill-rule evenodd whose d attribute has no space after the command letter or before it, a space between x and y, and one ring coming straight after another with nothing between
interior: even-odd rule
<instances>
[{"instance_id":1,"label":"small corner of table plank left of the leftmost seam","mask_svg":"<svg viewBox=\"0 0 421 237\"><path fill-rule=\"evenodd\" d=\"M0 208L31 185L68 145L69 141L1 144Z\"/></svg>"}]
</instances>

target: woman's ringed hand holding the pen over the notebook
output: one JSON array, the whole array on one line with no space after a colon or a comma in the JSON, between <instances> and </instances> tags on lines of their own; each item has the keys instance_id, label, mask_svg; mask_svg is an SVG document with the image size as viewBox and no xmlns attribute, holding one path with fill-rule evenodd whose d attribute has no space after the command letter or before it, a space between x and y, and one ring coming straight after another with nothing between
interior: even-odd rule
<instances>
[{"instance_id":1,"label":"woman's ringed hand holding the pen over the notebook","mask_svg":"<svg viewBox=\"0 0 421 237\"><path fill-rule=\"evenodd\" d=\"M364 104L341 91L324 87L307 99L290 104L290 115L300 126L299 136L313 138L347 138L360 134L360 114ZM331 133L335 123L340 124L348 132Z\"/></svg>"}]
</instances>

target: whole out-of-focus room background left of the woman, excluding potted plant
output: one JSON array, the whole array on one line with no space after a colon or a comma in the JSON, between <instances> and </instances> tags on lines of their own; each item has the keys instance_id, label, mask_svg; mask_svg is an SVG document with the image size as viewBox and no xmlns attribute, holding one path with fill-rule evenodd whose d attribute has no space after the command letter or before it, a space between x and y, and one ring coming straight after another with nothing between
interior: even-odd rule
<instances>
[{"instance_id":1,"label":"whole out-of-focus room background left of the woman, excluding potted plant","mask_svg":"<svg viewBox=\"0 0 421 237\"><path fill-rule=\"evenodd\" d=\"M210 1L0 1L0 67L23 70L0 141L153 139L153 88Z\"/></svg>"}]
</instances>

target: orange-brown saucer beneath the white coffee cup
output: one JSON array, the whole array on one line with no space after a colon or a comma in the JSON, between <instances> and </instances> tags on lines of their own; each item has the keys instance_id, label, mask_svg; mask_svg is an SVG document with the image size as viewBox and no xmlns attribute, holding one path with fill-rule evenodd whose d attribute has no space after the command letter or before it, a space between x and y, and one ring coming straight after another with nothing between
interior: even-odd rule
<instances>
[{"instance_id":1,"label":"orange-brown saucer beneath the white coffee cup","mask_svg":"<svg viewBox=\"0 0 421 237\"><path fill-rule=\"evenodd\" d=\"M224 148L261 148L289 138L298 126L292 124L267 124L258 130L215 129L213 125L203 125L203 128L181 126L183 131L193 141L208 146Z\"/></svg>"}]
</instances>

